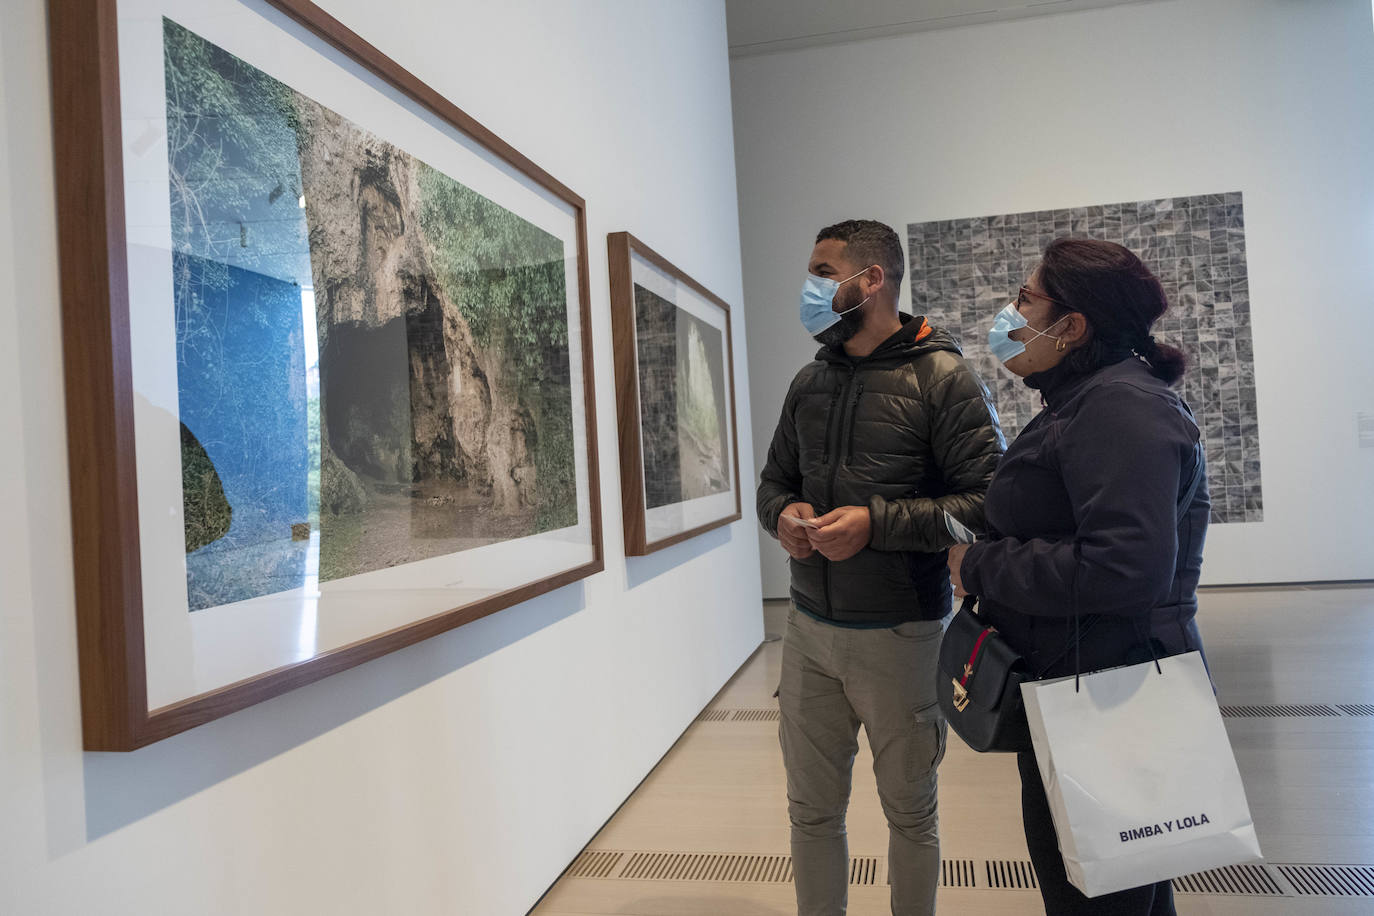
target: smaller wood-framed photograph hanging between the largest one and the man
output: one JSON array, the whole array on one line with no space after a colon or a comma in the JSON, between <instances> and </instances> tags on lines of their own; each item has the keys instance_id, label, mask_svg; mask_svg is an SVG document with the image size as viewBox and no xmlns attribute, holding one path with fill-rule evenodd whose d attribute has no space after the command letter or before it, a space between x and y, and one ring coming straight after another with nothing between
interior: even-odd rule
<instances>
[{"instance_id":1,"label":"smaller wood-framed photograph hanging between the largest one and the man","mask_svg":"<svg viewBox=\"0 0 1374 916\"><path fill-rule=\"evenodd\" d=\"M607 236L625 552L741 518L730 306L628 232Z\"/></svg>"}]
</instances>

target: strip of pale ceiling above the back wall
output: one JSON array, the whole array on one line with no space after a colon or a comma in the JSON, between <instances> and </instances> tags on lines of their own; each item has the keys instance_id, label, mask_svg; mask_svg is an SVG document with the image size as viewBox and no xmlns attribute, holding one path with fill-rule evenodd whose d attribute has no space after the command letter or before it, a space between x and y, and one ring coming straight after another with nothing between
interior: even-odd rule
<instances>
[{"instance_id":1,"label":"strip of pale ceiling above the back wall","mask_svg":"<svg viewBox=\"0 0 1374 916\"><path fill-rule=\"evenodd\" d=\"M725 0L730 56L1151 0Z\"/></svg>"}]
</instances>

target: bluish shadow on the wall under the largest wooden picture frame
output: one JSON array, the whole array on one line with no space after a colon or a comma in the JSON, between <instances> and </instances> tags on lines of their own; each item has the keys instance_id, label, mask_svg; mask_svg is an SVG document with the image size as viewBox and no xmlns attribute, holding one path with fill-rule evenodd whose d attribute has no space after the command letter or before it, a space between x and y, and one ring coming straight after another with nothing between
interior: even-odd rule
<instances>
[{"instance_id":1,"label":"bluish shadow on the wall under the largest wooden picture frame","mask_svg":"<svg viewBox=\"0 0 1374 916\"><path fill-rule=\"evenodd\" d=\"M585 606L584 582L576 582L142 750L82 754L87 840L346 725Z\"/></svg>"}]
</instances>

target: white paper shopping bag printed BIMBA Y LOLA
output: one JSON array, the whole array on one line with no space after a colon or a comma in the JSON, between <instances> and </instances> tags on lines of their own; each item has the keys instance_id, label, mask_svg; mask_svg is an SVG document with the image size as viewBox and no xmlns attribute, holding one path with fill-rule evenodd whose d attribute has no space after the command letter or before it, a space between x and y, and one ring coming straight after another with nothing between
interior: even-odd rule
<instances>
[{"instance_id":1,"label":"white paper shopping bag printed BIMBA Y LOLA","mask_svg":"<svg viewBox=\"0 0 1374 916\"><path fill-rule=\"evenodd\" d=\"M1260 843L1198 652L1021 685L1069 882L1087 897L1253 862Z\"/></svg>"}]
</instances>

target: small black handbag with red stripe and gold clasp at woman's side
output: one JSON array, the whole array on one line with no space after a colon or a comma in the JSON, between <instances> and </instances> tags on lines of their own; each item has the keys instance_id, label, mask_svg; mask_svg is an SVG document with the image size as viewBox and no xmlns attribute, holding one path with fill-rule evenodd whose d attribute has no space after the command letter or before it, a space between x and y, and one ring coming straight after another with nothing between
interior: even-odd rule
<instances>
[{"instance_id":1,"label":"small black handbag with red stripe and gold clasp at woman's side","mask_svg":"<svg viewBox=\"0 0 1374 916\"><path fill-rule=\"evenodd\" d=\"M1030 750L1030 726L1021 705L1021 683L1033 680L1021 654L963 599L940 643L936 692L940 710L976 751Z\"/></svg>"}]
</instances>

